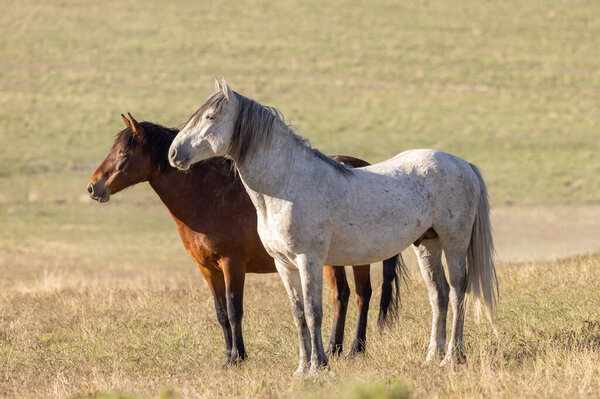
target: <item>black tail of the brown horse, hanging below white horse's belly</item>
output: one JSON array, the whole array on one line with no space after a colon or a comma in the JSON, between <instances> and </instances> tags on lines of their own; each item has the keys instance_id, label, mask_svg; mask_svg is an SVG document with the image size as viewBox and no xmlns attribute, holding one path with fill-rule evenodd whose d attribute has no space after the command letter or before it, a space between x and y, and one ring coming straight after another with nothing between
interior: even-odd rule
<instances>
[{"instance_id":1,"label":"black tail of the brown horse, hanging below white horse's belly","mask_svg":"<svg viewBox=\"0 0 600 399\"><path fill-rule=\"evenodd\" d=\"M380 330L398 318L400 308L400 280L408 278L406 263L402 254L383 261L383 283L381 283L381 301L377 325Z\"/></svg>"}]
</instances>

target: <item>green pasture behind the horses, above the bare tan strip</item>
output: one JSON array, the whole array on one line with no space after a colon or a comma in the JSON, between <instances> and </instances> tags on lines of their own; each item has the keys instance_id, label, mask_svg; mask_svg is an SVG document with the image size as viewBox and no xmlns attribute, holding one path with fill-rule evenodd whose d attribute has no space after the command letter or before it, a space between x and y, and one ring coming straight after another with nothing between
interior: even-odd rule
<instances>
[{"instance_id":1,"label":"green pasture behind the horses, above the bare tan strip","mask_svg":"<svg viewBox=\"0 0 600 399\"><path fill-rule=\"evenodd\" d=\"M432 147L495 204L600 201L600 4L395 3L4 4L0 190L71 192L119 113L180 127L225 76L326 152Z\"/></svg>"}]
</instances>

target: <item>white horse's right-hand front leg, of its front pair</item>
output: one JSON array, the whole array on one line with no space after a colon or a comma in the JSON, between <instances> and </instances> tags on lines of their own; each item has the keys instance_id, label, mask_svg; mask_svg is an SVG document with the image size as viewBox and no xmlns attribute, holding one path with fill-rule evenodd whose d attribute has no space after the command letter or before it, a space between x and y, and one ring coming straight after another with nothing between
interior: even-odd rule
<instances>
[{"instance_id":1,"label":"white horse's right-hand front leg, of its front pair","mask_svg":"<svg viewBox=\"0 0 600 399\"><path fill-rule=\"evenodd\" d=\"M296 258L300 270L302 292L304 294L304 315L308 330L312 353L310 371L316 373L327 366L327 355L323 349L321 324L323 322L323 261L313 254L302 254Z\"/></svg>"}]
</instances>

